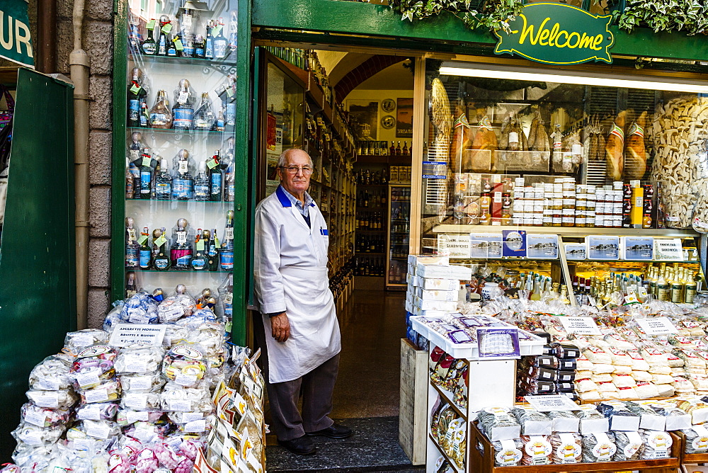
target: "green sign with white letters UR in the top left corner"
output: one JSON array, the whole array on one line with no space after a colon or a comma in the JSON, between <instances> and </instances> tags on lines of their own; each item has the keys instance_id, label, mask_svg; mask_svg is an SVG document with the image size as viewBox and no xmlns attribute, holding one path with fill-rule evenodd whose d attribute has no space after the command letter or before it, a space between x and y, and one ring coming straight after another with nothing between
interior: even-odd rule
<instances>
[{"instance_id":1,"label":"green sign with white letters UR in the top left corner","mask_svg":"<svg viewBox=\"0 0 708 473\"><path fill-rule=\"evenodd\" d=\"M35 67L25 0L0 2L0 57Z\"/></svg>"}]
</instances>

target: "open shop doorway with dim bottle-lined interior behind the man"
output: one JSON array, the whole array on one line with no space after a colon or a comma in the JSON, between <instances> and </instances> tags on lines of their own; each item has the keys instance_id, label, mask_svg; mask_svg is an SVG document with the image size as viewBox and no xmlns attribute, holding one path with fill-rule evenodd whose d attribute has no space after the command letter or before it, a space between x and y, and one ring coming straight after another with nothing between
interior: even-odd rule
<instances>
[{"instance_id":1,"label":"open shop doorway with dim bottle-lined interior behind the man","mask_svg":"<svg viewBox=\"0 0 708 473\"><path fill-rule=\"evenodd\" d=\"M406 336L413 60L379 52L256 48L254 202L278 186L290 147L306 150L309 194L329 227L331 289L342 353L332 418L353 438L317 439L296 457L268 437L268 469L416 469L399 445L401 338Z\"/></svg>"}]
</instances>

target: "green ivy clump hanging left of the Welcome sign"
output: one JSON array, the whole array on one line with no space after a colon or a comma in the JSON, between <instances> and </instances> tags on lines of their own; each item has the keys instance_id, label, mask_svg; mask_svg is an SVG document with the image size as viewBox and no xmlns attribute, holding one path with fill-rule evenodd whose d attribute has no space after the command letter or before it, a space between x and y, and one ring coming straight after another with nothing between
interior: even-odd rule
<instances>
[{"instance_id":1,"label":"green ivy clump hanging left of the Welcome sign","mask_svg":"<svg viewBox=\"0 0 708 473\"><path fill-rule=\"evenodd\" d=\"M449 11L473 30L508 30L509 21L523 9L522 0L391 0L389 6L409 21Z\"/></svg>"}]
</instances>

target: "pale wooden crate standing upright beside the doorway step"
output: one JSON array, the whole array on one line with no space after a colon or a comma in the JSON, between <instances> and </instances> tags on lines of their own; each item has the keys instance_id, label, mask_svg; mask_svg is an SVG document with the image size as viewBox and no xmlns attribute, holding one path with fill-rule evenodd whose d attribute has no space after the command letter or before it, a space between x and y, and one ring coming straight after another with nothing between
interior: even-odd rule
<instances>
[{"instance_id":1,"label":"pale wooden crate standing upright beside the doorway step","mask_svg":"<svg viewBox=\"0 0 708 473\"><path fill-rule=\"evenodd\" d=\"M413 465L426 462L428 432L428 352L401 338L399 443Z\"/></svg>"}]
</instances>

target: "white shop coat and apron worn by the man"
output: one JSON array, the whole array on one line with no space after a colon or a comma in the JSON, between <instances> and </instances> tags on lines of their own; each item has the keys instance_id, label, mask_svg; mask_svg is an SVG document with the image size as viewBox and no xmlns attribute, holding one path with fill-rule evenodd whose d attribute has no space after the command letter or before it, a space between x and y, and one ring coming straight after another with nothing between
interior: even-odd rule
<instances>
[{"instance_id":1,"label":"white shop coat and apron worn by the man","mask_svg":"<svg viewBox=\"0 0 708 473\"><path fill-rule=\"evenodd\" d=\"M256 207L256 298L263 313L270 382L297 380L341 351L341 336L329 290L329 232L319 208L309 207L310 227L285 189ZM271 336L265 314L285 312L290 338Z\"/></svg>"}]
</instances>

